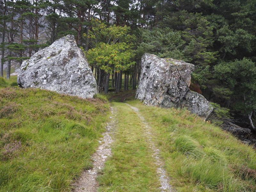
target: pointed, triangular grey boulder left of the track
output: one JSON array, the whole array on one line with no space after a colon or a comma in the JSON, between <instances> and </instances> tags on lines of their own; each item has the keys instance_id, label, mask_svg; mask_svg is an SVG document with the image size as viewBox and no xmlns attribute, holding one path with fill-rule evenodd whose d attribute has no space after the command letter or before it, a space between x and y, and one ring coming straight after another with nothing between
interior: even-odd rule
<instances>
[{"instance_id":1,"label":"pointed, triangular grey boulder left of the track","mask_svg":"<svg viewBox=\"0 0 256 192\"><path fill-rule=\"evenodd\" d=\"M97 84L75 37L67 35L22 62L17 83L82 98L92 98Z\"/></svg>"}]
</instances>

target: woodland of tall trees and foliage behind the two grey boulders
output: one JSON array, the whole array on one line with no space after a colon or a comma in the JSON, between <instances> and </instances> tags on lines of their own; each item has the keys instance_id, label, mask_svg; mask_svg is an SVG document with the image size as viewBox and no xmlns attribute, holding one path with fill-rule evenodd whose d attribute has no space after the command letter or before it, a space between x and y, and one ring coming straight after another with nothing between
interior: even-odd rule
<instances>
[{"instance_id":1,"label":"woodland of tall trees and foliage behind the two grey boulders","mask_svg":"<svg viewBox=\"0 0 256 192\"><path fill-rule=\"evenodd\" d=\"M21 64L40 47L73 34L101 91L108 92L110 75L116 88L119 71L135 89L141 55L149 52L196 65L192 83L208 100L251 114L255 6L255 0L3 0L0 76L4 62Z\"/></svg>"}]
</instances>

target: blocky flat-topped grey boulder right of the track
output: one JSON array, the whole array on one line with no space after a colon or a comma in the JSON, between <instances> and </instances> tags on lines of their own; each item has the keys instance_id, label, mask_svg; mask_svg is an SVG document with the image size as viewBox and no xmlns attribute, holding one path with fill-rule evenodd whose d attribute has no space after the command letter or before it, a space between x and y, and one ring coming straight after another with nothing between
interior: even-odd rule
<instances>
[{"instance_id":1,"label":"blocky flat-topped grey boulder right of the track","mask_svg":"<svg viewBox=\"0 0 256 192\"><path fill-rule=\"evenodd\" d=\"M206 119L213 107L203 95L188 88L194 68L191 63L171 58L161 59L145 53L141 58L141 75L136 99L147 105L164 108L185 107Z\"/></svg>"}]
</instances>

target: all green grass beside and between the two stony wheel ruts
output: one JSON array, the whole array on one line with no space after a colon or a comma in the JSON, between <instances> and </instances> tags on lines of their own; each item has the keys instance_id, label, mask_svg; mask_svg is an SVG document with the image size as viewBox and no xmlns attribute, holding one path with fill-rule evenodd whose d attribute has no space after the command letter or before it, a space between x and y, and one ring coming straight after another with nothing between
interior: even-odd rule
<instances>
[{"instance_id":1,"label":"all green grass beside and between the two stony wheel ruts","mask_svg":"<svg viewBox=\"0 0 256 192\"><path fill-rule=\"evenodd\" d=\"M187 110L145 106L131 89L84 100L13 82L0 79L0 192L70 191L81 170L92 166L109 115L107 98L118 123L99 191L159 191L144 126L122 102L139 108L151 126L177 191L256 191L255 150Z\"/></svg>"}]
</instances>

